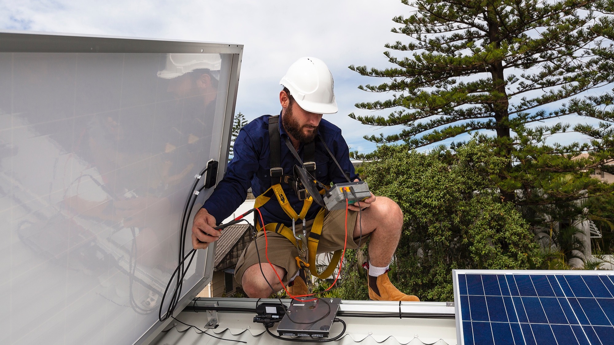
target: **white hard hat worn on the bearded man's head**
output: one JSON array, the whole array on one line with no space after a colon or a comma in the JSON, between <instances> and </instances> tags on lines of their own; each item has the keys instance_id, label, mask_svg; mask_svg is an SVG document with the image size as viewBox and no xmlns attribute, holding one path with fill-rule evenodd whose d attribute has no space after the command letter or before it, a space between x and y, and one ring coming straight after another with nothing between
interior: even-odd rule
<instances>
[{"instance_id":1,"label":"white hard hat worn on the bearded man's head","mask_svg":"<svg viewBox=\"0 0 614 345\"><path fill-rule=\"evenodd\" d=\"M324 61L318 58L298 59L279 83L290 90L290 95L303 110L316 114L338 111L333 76Z\"/></svg>"}]
</instances>

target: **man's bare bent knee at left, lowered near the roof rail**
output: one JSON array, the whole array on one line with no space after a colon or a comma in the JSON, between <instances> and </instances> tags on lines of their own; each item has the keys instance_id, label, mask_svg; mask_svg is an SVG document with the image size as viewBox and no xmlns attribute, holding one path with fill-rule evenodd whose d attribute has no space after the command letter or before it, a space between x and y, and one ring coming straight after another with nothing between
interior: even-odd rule
<instances>
[{"instance_id":1,"label":"man's bare bent knee at left, lowered near the roof rail","mask_svg":"<svg viewBox=\"0 0 614 345\"><path fill-rule=\"evenodd\" d=\"M258 265L262 266L262 272L260 272L260 267L258 267ZM283 279L286 275L286 269L277 265L273 265L273 267L279 274L279 277ZM262 276L263 273L265 274L266 280L265 277ZM271 290L271 287L266 281L271 284L273 290ZM282 285L279 283L278 277L268 262L249 266L243 273L243 277L241 277L241 285L243 285L243 291L251 298L268 298L271 293L283 289Z\"/></svg>"}]
</instances>

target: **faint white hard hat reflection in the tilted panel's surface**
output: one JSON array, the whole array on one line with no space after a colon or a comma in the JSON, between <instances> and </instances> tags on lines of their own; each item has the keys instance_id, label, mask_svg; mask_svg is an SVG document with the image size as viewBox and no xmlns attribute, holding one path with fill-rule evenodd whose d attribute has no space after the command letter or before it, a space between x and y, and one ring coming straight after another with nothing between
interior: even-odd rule
<instances>
[{"instance_id":1,"label":"faint white hard hat reflection in the tilted panel's surface","mask_svg":"<svg viewBox=\"0 0 614 345\"><path fill-rule=\"evenodd\" d=\"M173 79L195 69L209 69L213 72L211 75L219 79L221 65L222 58L219 54L170 53L166 55L165 69L158 72L158 77Z\"/></svg>"}]
</instances>

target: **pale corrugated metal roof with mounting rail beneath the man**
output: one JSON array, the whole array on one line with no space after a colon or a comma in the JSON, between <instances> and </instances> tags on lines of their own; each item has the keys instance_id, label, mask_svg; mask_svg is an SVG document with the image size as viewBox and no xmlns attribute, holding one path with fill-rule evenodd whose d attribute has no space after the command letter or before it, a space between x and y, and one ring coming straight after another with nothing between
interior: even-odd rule
<instances>
[{"instance_id":1,"label":"pale corrugated metal roof with mounting rail beneath the man","mask_svg":"<svg viewBox=\"0 0 614 345\"><path fill-rule=\"evenodd\" d=\"M216 299L207 299L215 301ZM230 299L217 299L227 301ZM243 299L251 300L251 299ZM250 303L254 303L253 300ZM274 301L274 300L271 300ZM343 301L344 308L340 311L372 310L373 317L349 317L338 316L348 325L345 335L333 341L334 344L438 344L456 345L456 322L454 319L437 318L414 318L414 317L377 317L377 311L387 312L388 309L396 309L398 303L373 303L373 301ZM221 305L222 303L220 303ZM343 305L343 304L342 304ZM383 308L382 308L383 307ZM453 311L454 307L446 307L446 303L413 302L403 303L403 312L427 311L438 312L448 308ZM245 341L247 344L296 344L295 341L282 341L271 337L266 333L262 324L253 322L254 313L250 312L227 312L217 311L219 327L215 329L204 328L208 322L206 312L183 311L177 319L186 324L195 325L209 334L203 334L193 327L188 327L179 322L173 322L160 333L152 342L155 345L186 345L186 344L239 344L235 341ZM424 315L424 314L423 314ZM331 336L335 336L342 329L341 324L333 324ZM271 330L274 334L274 328ZM215 335L219 338L213 338ZM228 341L232 340L232 341Z\"/></svg>"}]
</instances>

